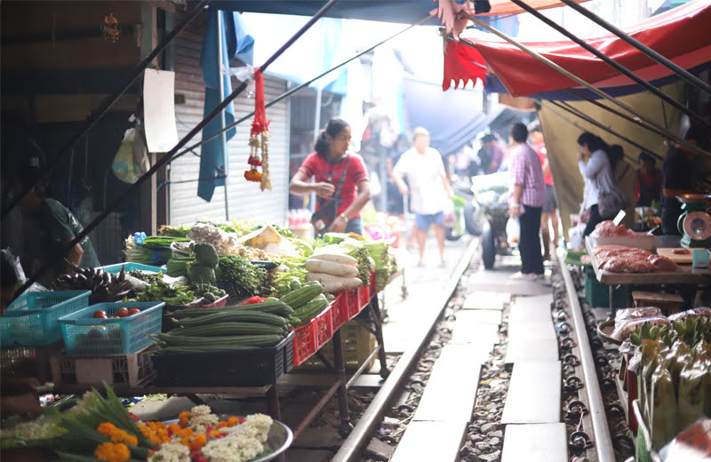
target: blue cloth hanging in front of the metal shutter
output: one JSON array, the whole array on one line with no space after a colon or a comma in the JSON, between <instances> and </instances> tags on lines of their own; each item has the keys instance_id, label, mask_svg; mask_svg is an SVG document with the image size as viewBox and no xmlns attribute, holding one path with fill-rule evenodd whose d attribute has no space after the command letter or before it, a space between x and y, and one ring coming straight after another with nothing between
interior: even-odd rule
<instances>
[{"instance_id":1,"label":"blue cloth hanging in front of the metal shutter","mask_svg":"<svg viewBox=\"0 0 711 462\"><path fill-rule=\"evenodd\" d=\"M246 64L252 65L252 51L254 39L247 33L242 15L238 12L222 12L214 7L210 7L205 39L203 45L203 55L200 57L200 67L203 68L203 80L205 83L205 104L204 116L207 116L216 108L222 100L232 92L232 84L228 73L221 73L223 94L220 95L220 72L218 71L218 40L217 27L218 20L222 21L222 67L229 68L229 61L238 59ZM231 104L225 108L225 125L222 124L221 117L215 117L203 129L203 138L210 138L212 135L222 130L226 125L235 122L235 109ZM226 132L229 140L236 134L236 129ZM229 165L222 162L222 139L218 137L205 143L200 151L200 176L197 183L197 195L205 201L212 200L212 193L215 187L225 184L224 176L228 172Z\"/></svg>"}]
</instances>

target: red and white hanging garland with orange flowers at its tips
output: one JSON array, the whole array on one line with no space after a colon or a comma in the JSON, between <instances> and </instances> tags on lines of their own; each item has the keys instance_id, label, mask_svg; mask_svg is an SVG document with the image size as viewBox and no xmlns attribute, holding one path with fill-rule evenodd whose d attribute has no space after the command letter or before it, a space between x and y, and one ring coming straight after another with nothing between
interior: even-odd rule
<instances>
[{"instance_id":1,"label":"red and white hanging garland with orange flowers at its tips","mask_svg":"<svg viewBox=\"0 0 711 462\"><path fill-rule=\"evenodd\" d=\"M267 109L264 105L264 76L260 68L254 69L254 121L250 131L250 157L247 163L250 170L244 171L247 181L260 183L264 191L272 189L272 179L269 174L269 122ZM261 167L261 171L259 171Z\"/></svg>"}]
</instances>

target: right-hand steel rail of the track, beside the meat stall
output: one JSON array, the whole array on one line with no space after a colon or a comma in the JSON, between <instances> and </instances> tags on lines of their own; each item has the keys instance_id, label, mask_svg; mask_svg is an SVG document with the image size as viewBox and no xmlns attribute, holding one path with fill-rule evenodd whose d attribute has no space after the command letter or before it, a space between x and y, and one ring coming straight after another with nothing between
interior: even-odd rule
<instances>
[{"instance_id":1,"label":"right-hand steel rail of the track, beside the meat stall","mask_svg":"<svg viewBox=\"0 0 711 462\"><path fill-rule=\"evenodd\" d=\"M615 462L615 450L612 446L612 438L610 436L610 427L607 425L607 416L605 415L605 407L603 402L603 394L600 391L600 382L597 378L595 370L595 359L593 358L590 348L590 339L587 338L587 327L585 318L580 309L578 299L578 291L575 290L575 284L572 282L571 273L565 265L565 257L563 251L556 253L558 259L558 267L561 268L563 282L565 283L565 293L568 296L568 305L571 310L573 331L575 331L576 343L580 353L580 365L583 370L583 381L585 383L585 392L587 394L588 410L593 423L593 434L595 435L595 450L597 451L597 459L600 462Z\"/></svg>"}]
</instances>

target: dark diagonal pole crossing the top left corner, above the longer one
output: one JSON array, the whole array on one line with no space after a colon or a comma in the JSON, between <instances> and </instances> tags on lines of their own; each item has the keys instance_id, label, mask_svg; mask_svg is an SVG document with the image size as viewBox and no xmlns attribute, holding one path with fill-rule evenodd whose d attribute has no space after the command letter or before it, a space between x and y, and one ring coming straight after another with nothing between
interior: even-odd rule
<instances>
[{"instance_id":1,"label":"dark diagonal pole crossing the top left corner, above the longer one","mask_svg":"<svg viewBox=\"0 0 711 462\"><path fill-rule=\"evenodd\" d=\"M12 209L15 208L18 203L20 203L20 200L28 194L30 189L32 189L32 187L35 187L35 184L38 179L41 179L45 174L47 174L48 171L51 171L58 163L60 163L60 160L62 159L62 157L64 157L64 155L66 155L69 151L73 150L78 146L79 142L84 139L84 137L89 133L89 131L92 131L94 126L99 123L101 117L105 116L108 113L108 110L112 108L114 104L116 104L116 101L121 98L121 96L125 92L128 91L133 82L143 73L143 69L145 69L152 60L155 60L156 56L163 52L165 48L169 44L171 44L173 39L178 36L184 28L188 27L188 24L190 24L192 20L196 19L196 16L203 11L203 8L207 4L210 4L210 0L202 0L199 4L196 4L196 7L193 8L193 10L188 14L188 18L186 18L180 24L180 26L172 29L171 33L165 36L163 42L158 44L158 46L156 46L156 48L154 48L152 52L148 53L148 56L146 56L146 58L140 61L139 65L136 66L136 68L133 70L132 76L129 77L124 86L122 86L118 90L118 92L109 96L108 99L102 103L100 108L98 108L96 112L94 112L92 116L90 116L86 120L84 128L82 128L81 131L76 133L76 135L72 139L70 139L66 145L61 147L57 154L54 155L54 157L52 157L52 159L44 165L42 170L39 171L39 173L37 174L36 178L32 180L32 185L29 187L25 187L25 190L22 191L20 195L12 197L12 199L3 206L2 212L0 212L0 217L4 218L8 213L10 213L10 211L12 211Z\"/></svg>"}]
</instances>

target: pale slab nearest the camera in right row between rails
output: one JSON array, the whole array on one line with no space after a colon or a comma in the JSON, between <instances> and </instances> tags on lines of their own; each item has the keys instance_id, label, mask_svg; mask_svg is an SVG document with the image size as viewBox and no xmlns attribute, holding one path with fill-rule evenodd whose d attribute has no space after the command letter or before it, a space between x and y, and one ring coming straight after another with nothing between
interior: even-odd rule
<instances>
[{"instance_id":1,"label":"pale slab nearest the camera in right row between rails","mask_svg":"<svg viewBox=\"0 0 711 462\"><path fill-rule=\"evenodd\" d=\"M565 424L508 425L501 462L567 462Z\"/></svg>"}]
</instances>

